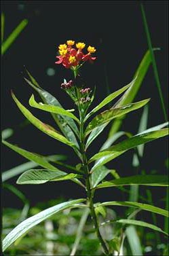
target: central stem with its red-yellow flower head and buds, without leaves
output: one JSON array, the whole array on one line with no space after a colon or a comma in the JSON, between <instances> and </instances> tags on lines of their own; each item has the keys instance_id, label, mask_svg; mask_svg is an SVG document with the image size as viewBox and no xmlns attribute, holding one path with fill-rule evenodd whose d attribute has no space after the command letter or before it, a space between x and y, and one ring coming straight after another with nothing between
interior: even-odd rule
<instances>
[{"instance_id":1,"label":"central stem with its red-yellow flower head and buds, without leaves","mask_svg":"<svg viewBox=\"0 0 169 256\"><path fill-rule=\"evenodd\" d=\"M79 69L86 61L94 61L96 60L96 57L93 57L92 54L96 52L96 49L92 46L88 46L88 53L83 53L83 48L85 48L85 43L76 43L76 48L73 48L73 45L75 44L75 41L68 40L67 44L60 44L58 47L59 56L56 56L58 58L58 61L56 61L56 64L62 64L66 69L71 69L73 71L74 78L76 79L77 75L79 74ZM65 80L65 79L64 79ZM102 249L104 250L106 255L109 254L109 249L107 248L107 244L105 240L102 238L102 235L100 234L99 230L99 224L98 219L96 216L96 212L94 210L94 190L91 189L90 185L90 170L88 166L88 158L86 156L86 145L85 145L85 132L84 132L84 124L86 121L86 112L88 110L88 107L90 107L90 104L92 103L92 100L90 98L90 93L92 90L90 88L77 88L75 84L73 84L73 81L70 80L67 82L66 80L61 85L61 88L66 90L67 94L72 98L75 105L77 105L77 109L79 111L79 151L81 153L81 162L82 167L81 170L83 172L84 179L86 181L86 193L87 193L87 205L90 208L90 214L92 216L92 221L94 223L94 227L96 230L96 234L98 237L98 240L100 241L100 244L102 245Z\"/></svg>"}]
</instances>

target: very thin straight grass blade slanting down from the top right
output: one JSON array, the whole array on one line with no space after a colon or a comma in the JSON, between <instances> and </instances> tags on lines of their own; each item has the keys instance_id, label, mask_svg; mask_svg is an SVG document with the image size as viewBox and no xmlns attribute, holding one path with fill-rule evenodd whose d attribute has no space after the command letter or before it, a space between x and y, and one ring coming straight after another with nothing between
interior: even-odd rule
<instances>
[{"instance_id":1,"label":"very thin straight grass blade slanting down from the top right","mask_svg":"<svg viewBox=\"0 0 169 256\"><path fill-rule=\"evenodd\" d=\"M143 24L144 24L144 27L145 27L145 33L146 33L146 36L147 36L147 43L148 43L148 46L149 46L149 51L151 53L151 60L152 60L152 65L153 65L153 71L154 71L154 77L155 77L155 81L156 81L156 85L157 85L157 90L159 92L159 98L160 98L161 105L162 105L162 111L163 111L163 114L164 114L164 119L167 122L167 114L166 114L166 109L165 109L165 105L164 105L164 98L163 98L163 95L162 95L162 86L161 86L160 81L159 81L159 74L158 74L158 71L157 71L157 64L156 64L155 56L154 56L154 53L153 53L153 47L152 47L152 43L151 43L151 36L150 36L150 33L149 33L147 18L145 16L145 10L144 10L144 7L143 7L142 3L140 4L140 8L141 8L141 13L142 13L142 17L143 17Z\"/></svg>"}]
</instances>

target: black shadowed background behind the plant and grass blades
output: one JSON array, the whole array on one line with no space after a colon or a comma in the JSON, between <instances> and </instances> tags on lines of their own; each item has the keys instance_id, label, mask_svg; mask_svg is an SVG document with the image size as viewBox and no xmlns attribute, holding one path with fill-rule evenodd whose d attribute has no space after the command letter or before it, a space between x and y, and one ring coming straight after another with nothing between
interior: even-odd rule
<instances>
[{"instance_id":1,"label":"black shadowed background behind the plant and grass blades","mask_svg":"<svg viewBox=\"0 0 169 256\"><path fill-rule=\"evenodd\" d=\"M14 90L18 99L40 120L55 126L48 113L29 107L28 100L35 92L24 81L22 71L26 65L39 84L56 96L65 109L73 108L73 103L67 94L60 89L64 77L72 78L71 71L54 64L58 45L67 39L84 41L97 49L97 60L94 65L86 64L81 69L86 86L94 88L96 85L96 98L93 105L107 96L105 66L111 92L128 84L148 48L140 3L140 1L1 1L2 12L5 13L5 38L23 18L29 19L26 29L7 50L1 61L1 129L16 130L14 136L8 141L43 155L68 154L67 162L78 164L79 160L75 155L73 156L73 150L66 145L43 134L32 125L25 126L22 130L18 128L18 124L24 122L24 116L12 100L10 90ZM143 1L143 4L153 47L161 48L161 51L155 52L155 59L167 105L168 1ZM56 71L54 76L47 74L48 68ZM149 68L134 101L144 98L151 98L148 127L163 123L164 116L152 67ZM138 109L128 114L121 130L136 134L142 111L143 109ZM94 141L90 147L89 156L98 151L107 137L109 128L110 126ZM133 151L129 151L108 166L116 169L121 177L134 175L136 172L131 167L132 156ZM148 143L145 146L142 169L146 170L147 174L151 173L151 170L164 174L166 157L166 138ZM2 145L2 171L26 161L22 156ZM66 199L85 196L81 187L71 181L44 185L16 185L16 179L17 177L8 182L18 187L31 201L31 205L60 196ZM164 196L165 190L155 187L151 191L153 191L153 200L157 202L161 196ZM142 193L143 189L140 189L140 194ZM117 193L116 189L100 189L96 193L96 200L124 200L124 198L120 192ZM3 206L20 207L21 205L16 196L6 190L3 191Z\"/></svg>"}]
</instances>

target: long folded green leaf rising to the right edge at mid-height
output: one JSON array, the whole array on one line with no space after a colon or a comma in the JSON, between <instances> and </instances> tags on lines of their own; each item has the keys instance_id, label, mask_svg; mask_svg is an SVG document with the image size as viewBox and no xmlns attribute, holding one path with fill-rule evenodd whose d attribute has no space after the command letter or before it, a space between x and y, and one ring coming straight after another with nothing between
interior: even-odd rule
<instances>
[{"instance_id":1,"label":"long folded green leaf rising to the right edge at mid-height","mask_svg":"<svg viewBox=\"0 0 169 256\"><path fill-rule=\"evenodd\" d=\"M117 143L116 145L113 145L108 149L100 151L90 159L90 162L99 159L93 166L91 172L93 172L94 169L96 169L98 166L102 166L103 164L110 162L111 160L117 158L117 156L120 156L122 153L128 151L129 149L166 135L168 135L168 128L164 128L162 130L155 130L153 132L142 132L140 134L132 136L130 139L121 141L120 143Z\"/></svg>"}]
</instances>

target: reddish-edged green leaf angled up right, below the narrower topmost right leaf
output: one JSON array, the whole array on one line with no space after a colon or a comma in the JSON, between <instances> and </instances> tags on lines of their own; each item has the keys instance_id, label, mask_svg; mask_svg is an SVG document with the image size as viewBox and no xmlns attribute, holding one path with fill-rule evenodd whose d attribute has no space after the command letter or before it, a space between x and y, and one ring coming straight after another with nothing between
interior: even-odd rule
<instances>
[{"instance_id":1,"label":"reddish-edged green leaf angled up right, below the narrower topmost right leaf","mask_svg":"<svg viewBox=\"0 0 169 256\"><path fill-rule=\"evenodd\" d=\"M140 107L143 107L149 102L149 100L150 99L148 98L146 100L138 101L137 103L124 105L123 107L109 109L100 113L99 115L96 115L96 117L94 117L94 119L88 124L86 128L86 136L92 132L94 128L113 120L113 118L119 117L120 115L124 115L125 113L129 113L130 111L134 111Z\"/></svg>"}]
</instances>

